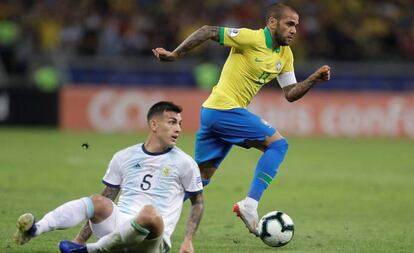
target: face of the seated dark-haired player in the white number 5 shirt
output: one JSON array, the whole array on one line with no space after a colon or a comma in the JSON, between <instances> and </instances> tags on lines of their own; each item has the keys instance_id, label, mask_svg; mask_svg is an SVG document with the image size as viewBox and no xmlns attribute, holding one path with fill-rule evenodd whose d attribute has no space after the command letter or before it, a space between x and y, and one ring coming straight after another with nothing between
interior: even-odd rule
<instances>
[{"instance_id":1,"label":"face of the seated dark-haired player in the white number 5 shirt","mask_svg":"<svg viewBox=\"0 0 414 253\"><path fill-rule=\"evenodd\" d=\"M180 113L166 111L157 117L156 135L159 141L165 146L174 146L181 132L181 123Z\"/></svg>"}]
</instances>

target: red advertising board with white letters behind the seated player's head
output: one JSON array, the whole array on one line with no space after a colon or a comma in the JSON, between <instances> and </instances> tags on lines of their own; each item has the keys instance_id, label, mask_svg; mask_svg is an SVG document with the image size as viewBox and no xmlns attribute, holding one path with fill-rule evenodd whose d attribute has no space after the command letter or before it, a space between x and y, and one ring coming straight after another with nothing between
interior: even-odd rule
<instances>
[{"instance_id":1,"label":"red advertising board with white letters behind the seated player's head","mask_svg":"<svg viewBox=\"0 0 414 253\"><path fill-rule=\"evenodd\" d=\"M146 129L146 113L161 100L183 107L183 127L198 128L202 101L208 93L187 89L116 89L66 86L61 90L60 127L63 129L125 132Z\"/></svg>"}]
</instances>

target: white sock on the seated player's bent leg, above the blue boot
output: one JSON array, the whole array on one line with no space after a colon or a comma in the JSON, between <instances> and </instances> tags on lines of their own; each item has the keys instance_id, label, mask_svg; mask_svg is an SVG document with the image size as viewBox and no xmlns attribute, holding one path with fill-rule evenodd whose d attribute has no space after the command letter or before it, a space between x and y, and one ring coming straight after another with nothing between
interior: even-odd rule
<instances>
[{"instance_id":1,"label":"white sock on the seated player's bent leg, above the blue boot","mask_svg":"<svg viewBox=\"0 0 414 253\"><path fill-rule=\"evenodd\" d=\"M97 241L86 244L89 253L111 252L113 249L137 245L147 238L150 232L134 220L124 223L118 231L112 232Z\"/></svg>"}]
</instances>

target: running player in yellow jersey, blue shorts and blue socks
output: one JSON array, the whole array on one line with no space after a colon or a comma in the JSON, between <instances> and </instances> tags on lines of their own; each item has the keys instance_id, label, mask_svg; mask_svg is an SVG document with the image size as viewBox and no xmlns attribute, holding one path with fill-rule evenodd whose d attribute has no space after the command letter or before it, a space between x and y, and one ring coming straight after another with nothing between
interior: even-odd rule
<instances>
[{"instance_id":1,"label":"running player in yellow jersey, blue shorts and blue socks","mask_svg":"<svg viewBox=\"0 0 414 253\"><path fill-rule=\"evenodd\" d=\"M297 82L293 54L289 47L299 24L290 6L273 4L267 10L266 27L259 30L203 26L174 51L153 49L161 61L175 61L207 40L231 47L218 84L201 109L195 160L207 185L233 145L263 151L247 197L233 211L250 232L258 234L258 202L275 177L288 149L286 139L246 107L260 88L277 78L290 102L303 97L316 83L330 79L330 67L322 66Z\"/></svg>"}]
</instances>

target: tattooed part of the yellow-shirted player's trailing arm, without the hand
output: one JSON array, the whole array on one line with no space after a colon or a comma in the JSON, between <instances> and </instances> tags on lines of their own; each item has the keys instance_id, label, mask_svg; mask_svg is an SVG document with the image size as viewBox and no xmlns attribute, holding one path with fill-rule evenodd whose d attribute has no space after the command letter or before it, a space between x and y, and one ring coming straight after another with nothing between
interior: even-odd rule
<instances>
[{"instance_id":1,"label":"tattooed part of the yellow-shirted player's trailing arm, without the hand","mask_svg":"<svg viewBox=\"0 0 414 253\"><path fill-rule=\"evenodd\" d=\"M188 36L174 52L180 57L209 39L219 42L219 33L220 28L218 26L205 25Z\"/></svg>"}]
</instances>

